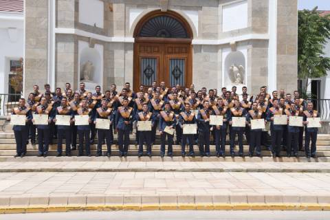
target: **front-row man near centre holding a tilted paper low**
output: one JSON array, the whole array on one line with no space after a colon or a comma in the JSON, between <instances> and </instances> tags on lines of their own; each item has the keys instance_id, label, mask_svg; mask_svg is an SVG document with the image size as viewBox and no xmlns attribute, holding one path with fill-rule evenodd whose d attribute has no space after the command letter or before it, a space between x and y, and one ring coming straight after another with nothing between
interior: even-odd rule
<instances>
[{"instance_id":1,"label":"front-row man near centre holding a tilted paper low","mask_svg":"<svg viewBox=\"0 0 330 220\"><path fill-rule=\"evenodd\" d=\"M173 111L170 111L170 103L166 102L164 105L165 109L164 111L160 112L160 119L159 119L159 133L160 133L160 156L164 157L165 155L165 141L166 141L166 135L167 135L167 155L169 157L173 156L173 134L167 133L164 130L166 129L166 126L168 126L168 129L175 129L175 125L177 124L177 120L175 118L175 114ZM174 133L174 131L173 131Z\"/></svg>"}]
</instances>

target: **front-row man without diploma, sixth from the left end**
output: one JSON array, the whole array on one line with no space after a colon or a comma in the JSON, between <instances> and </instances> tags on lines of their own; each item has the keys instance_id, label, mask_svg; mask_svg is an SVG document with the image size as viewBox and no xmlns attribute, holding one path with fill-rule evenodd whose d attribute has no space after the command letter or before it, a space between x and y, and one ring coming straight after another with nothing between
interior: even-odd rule
<instances>
[{"instance_id":1,"label":"front-row man without diploma, sixth from the left end","mask_svg":"<svg viewBox=\"0 0 330 220\"><path fill-rule=\"evenodd\" d=\"M129 151L129 132L133 124L133 108L129 107L129 100L122 100L115 114L116 131L118 133L118 146L120 157L126 157Z\"/></svg>"}]
</instances>

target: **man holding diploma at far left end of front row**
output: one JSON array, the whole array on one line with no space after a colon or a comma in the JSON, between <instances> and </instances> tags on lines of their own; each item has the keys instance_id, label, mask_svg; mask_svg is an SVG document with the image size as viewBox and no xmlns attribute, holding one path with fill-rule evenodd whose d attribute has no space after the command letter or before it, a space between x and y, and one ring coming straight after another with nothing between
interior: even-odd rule
<instances>
[{"instance_id":1,"label":"man holding diploma at far left end of front row","mask_svg":"<svg viewBox=\"0 0 330 220\"><path fill-rule=\"evenodd\" d=\"M29 122L32 118L30 108L25 106L25 99L19 99L19 107L12 109L12 115L25 115L26 122ZM14 157L24 157L26 154L26 141L28 140L28 126L25 125L14 125L12 130L15 135L16 142L16 155Z\"/></svg>"}]
</instances>

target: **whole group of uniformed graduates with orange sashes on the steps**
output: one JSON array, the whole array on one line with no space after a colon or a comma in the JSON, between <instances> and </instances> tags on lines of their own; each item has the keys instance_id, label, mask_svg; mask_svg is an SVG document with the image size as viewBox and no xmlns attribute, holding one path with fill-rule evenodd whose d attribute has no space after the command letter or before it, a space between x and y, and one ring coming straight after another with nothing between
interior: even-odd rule
<instances>
[{"instance_id":1,"label":"whole group of uniformed graduates with orange sashes on the steps","mask_svg":"<svg viewBox=\"0 0 330 220\"><path fill-rule=\"evenodd\" d=\"M49 144L57 137L57 156L63 155L62 142L65 139L65 155L72 156L72 151L77 149L78 156L91 156L90 144L94 143L96 133L98 146L96 156L111 156L113 133L118 133L118 146L120 156L126 157L129 151L129 135L136 127L138 121L151 121L151 131L138 131L136 129L135 144L139 145L138 155L143 155L143 145L146 144L146 155L151 157L156 131L160 133L160 156L173 156L173 144L181 144L181 156L186 156L186 145L189 146L188 156L194 157L194 144L199 145L201 157L210 156L210 144L215 144L217 157L225 157L225 140L230 135L230 155L236 156L234 146L238 137L240 157L243 153L243 135L245 135L249 148L249 156L261 157L261 145L267 146L272 151L273 157L280 157L281 148L286 148L287 156L298 157L298 151L303 150L303 133L305 131L305 155L316 157L317 128L307 127L307 118L318 117L312 102L300 98L298 91L294 96L285 94L285 91L273 91L267 94L267 87L263 86L260 93L250 96L247 87L243 87L241 95L236 94L236 87L227 91L225 87L218 94L217 89L203 87L195 91L194 85L190 88L181 88L177 85L166 87L162 82L156 82L151 87L140 86L136 93L131 85L125 83L120 93L116 85L111 89L101 92L101 87L96 86L92 93L85 89L85 83L80 83L80 88L73 91L69 83L65 90L56 88L54 93L50 85L45 85L45 92L39 92L39 86L34 85L34 91L29 94L28 100L19 100L19 106L12 109L12 114L26 115L26 125L13 127L17 142L17 155L26 155L28 140L36 143L36 130L38 134L39 157L47 157ZM146 92L145 92L146 91ZM34 125L33 114L46 114L49 116L47 125ZM56 125L56 115L71 115L71 125ZM75 115L89 115L89 125L74 124ZM210 115L223 115L223 125L210 125ZM303 116L304 126L290 126L274 124L274 115ZM246 126L232 126L233 117L244 117ZM96 129L96 119L110 120L109 129ZM264 119L270 123L272 142L268 144L268 131L251 129L251 120ZM197 124L197 133L183 133L184 124ZM169 130L172 132L168 132ZM175 130L175 133L174 131ZM176 135L174 143L173 136ZM210 143L210 137L213 142ZM105 142L104 142L105 140ZM167 141L166 141L167 140ZM311 148L309 148L311 142ZM107 144L107 152L102 152L102 144Z\"/></svg>"}]
</instances>

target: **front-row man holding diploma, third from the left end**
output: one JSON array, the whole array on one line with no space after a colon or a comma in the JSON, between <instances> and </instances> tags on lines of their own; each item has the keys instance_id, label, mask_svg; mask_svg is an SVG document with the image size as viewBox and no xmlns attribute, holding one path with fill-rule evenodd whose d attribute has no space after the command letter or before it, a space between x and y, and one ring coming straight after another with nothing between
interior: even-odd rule
<instances>
[{"instance_id":1,"label":"front-row man holding diploma, third from the left end","mask_svg":"<svg viewBox=\"0 0 330 220\"><path fill-rule=\"evenodd\" d=\"M52 115L51 119L54 123L56 123L56 115L70 115L72 116L72 109L67 105L67 98L63 97L61 100L61 106L56 107L56 111L54 115ZM70 124L72 122L72 118L70 119ZM70 125L57 125L57 155L56 157L62 156L62 142L63 137L65 137L65 155L71 157L71 126Z\"/></svg>"}]
</instances>

